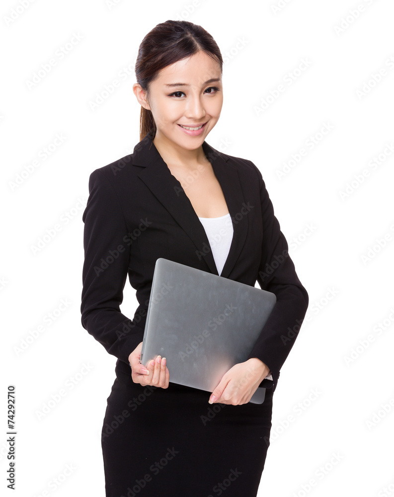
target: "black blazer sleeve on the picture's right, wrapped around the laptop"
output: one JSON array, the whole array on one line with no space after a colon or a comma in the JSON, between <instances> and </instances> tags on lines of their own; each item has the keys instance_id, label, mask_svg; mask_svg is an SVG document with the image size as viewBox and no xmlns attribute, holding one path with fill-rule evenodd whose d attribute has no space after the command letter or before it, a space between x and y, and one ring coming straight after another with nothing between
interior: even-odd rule
<instances>
[{"instance_id":1,"label":"black blazer sleeve on the picture's right, wrapped around the laptop","mask_svg":"<svg viewBox=\"0 0 394 497\"><path fill-rule=\"evenodd\" d=\"M290 258L287 241L280 231L261 172L254 164L253 166L260 185L263 223L257 281L260 288L274 293L277 300L247 358L257 357L270 368L273 380L264 379L259 386L265 388L273 386L275 389L280 369L300 331L309 297Z\"/></svg>"}]
</instances>

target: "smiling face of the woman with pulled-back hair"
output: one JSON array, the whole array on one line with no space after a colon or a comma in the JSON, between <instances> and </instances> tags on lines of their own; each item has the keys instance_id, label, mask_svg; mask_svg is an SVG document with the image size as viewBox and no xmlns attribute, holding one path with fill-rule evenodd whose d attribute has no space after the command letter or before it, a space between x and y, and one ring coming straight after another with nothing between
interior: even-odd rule
<instances>
[{"instance_id":1,"label":"smiling face of the woman with pulled-back hair","mask_svg":"<svg viewBox=\"0 0 394 497\"><path fill-rule=\"evenodd\" d=\"M204 52L167 66L150 83L146 107L155 119L155 141L197 149L218 122L222 104L220 65ZM201 125L194 131L182 128Z\"/></svg>"}]
</instances>

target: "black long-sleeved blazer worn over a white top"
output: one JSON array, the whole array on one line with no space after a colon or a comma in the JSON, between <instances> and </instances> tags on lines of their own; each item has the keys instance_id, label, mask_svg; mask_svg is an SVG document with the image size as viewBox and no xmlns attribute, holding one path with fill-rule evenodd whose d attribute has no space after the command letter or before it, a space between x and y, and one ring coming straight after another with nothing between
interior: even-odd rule
<instances>
[{"instance_id":1,"label":"black long-sleeved blazer worn over a white top","mask_svg":"<svg viewBox=\"0 0 394 497\"><path fill-rule=\"evenodd\" d=\"M308 293L288 254L259 169L205 141L202 146L233 221L233 241L221 276L251 286L257 280L277 298L248 356L270 368L273 381L265 379L260 386L275 390L306 314ZM116 367L130 374L128 357L143 339L156 260L164 257L218 274L208 238L151 133L133 154L90 174L82 221L81 323L118 358ZM120 312L127 275L139 303L133 319Z\"/></svg>"}]
</instances>

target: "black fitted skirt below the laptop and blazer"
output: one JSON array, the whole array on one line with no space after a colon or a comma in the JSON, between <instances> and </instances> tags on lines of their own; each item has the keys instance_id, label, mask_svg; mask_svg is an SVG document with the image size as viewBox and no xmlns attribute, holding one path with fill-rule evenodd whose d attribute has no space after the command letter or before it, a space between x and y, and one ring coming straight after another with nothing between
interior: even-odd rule
<instances>
[{"instance_id":1,"label":"black fitted skirt below the laptop and blazer","mask_svg":"<svg viewBox=\"0 0 394 497\"><path fill-rule=\"evenodd\" d=\"M106 497L257 495L272 388L263 404L208 404L209 392L115 372L101 433Z\"/></svg>"}]
</instances>

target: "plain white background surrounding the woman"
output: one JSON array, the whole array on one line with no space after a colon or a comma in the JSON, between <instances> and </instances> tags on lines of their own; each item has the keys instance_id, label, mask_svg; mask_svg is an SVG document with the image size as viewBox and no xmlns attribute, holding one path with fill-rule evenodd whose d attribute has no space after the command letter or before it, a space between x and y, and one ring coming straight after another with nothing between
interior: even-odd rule
<instances>
[{"instance_id":1,"label":"plain white background surrounding the woman","mask_svg":"<svg viewBox=\"0 0 394 497\"><path fill-rule=\"evenodd\" d=\"M226 141L225 153L259 167L310 295L274 395L258 495L394 494L393 2L24 1L3 1L0 21L1 493L104 496L100 432L116 358L80 324L81 216L89 174L139 141L139 44L159 22L183 18L202 25L227 57L222 116L207 142L220 149ZM40 72L51 59L51 71ZM31 84L34 73L41 77ZM279 84L284 91L270 99ZM324 125L330 131L319 134ZM302 148L307 155L280 177ZM122 312L132 317L136 306L127 281ZM74 388L70 377L80 379ZM9 384L17 399L13 493L5 476Z\"/></svg>"}]
</instances>

